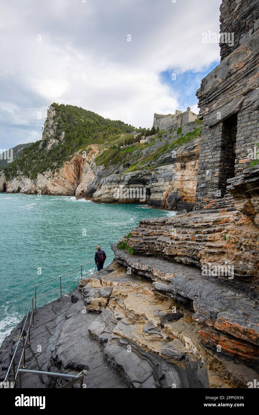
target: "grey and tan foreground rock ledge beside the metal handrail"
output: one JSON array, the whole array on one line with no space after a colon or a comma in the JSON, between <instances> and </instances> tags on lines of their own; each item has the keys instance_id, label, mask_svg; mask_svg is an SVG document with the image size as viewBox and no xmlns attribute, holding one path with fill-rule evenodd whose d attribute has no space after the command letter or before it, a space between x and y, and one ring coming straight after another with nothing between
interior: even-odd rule
<instances>
[{"instance_id":1,"label":"grey and tan foreground rock ledge beside the metal handrail","mask_svg":"<svg viewBox=\"0 0 259 415\"><path fill-rule=\"evenodd\" d=\"M246 388L258 377L256 301L198 268L113 249L79 291L38 309L28 368L83 373L86 388ZM21 328L2 344L0 379ZM22 376L23 387L65 382Z\"/></svg>"}]
</instances>

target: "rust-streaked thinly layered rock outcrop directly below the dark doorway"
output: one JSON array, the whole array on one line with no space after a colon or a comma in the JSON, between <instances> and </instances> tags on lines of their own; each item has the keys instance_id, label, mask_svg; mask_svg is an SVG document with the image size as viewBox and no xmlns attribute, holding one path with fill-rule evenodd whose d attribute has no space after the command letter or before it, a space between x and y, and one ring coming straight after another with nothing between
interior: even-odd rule
<instances>
[{"instance_id":1,"label":"rust-streaked thinly layered rock outcrop directly below the dark doorway","mask_svg":"<svg viewBox=\"0 0 259 415\"><path fill-rule=\"evenodd\" d=\"M128 245L138 254L162 255L196 266L233 266L235 276L259 276L258 228L237 210L209 209L141 220Z\"/></svg>"}]
</instances>

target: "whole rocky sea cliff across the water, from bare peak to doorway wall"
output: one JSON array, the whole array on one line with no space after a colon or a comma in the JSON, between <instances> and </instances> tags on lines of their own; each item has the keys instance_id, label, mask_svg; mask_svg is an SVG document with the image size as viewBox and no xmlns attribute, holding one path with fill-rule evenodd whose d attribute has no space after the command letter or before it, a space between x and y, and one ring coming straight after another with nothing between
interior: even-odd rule
<instances>
[{"instance_id":1,"label":"whole rocky sea cliff across the water, from bare peak to doorway wall","mask_svg":"<svg viewBox=\"0 0 259 415\"><path fill-rule=\"evenodd\" d=\"M165 209L192 210L201 135L197 123L187 123L184 136L182 132L162 131L150 144L139 143L141 134L135 139L131 134L114 135L113 129L108 140L92 137L99 144L80 146L77 137L70 138L76 135L74 113L64 112L63 120L63 107L49 107L42 140L29 147L10 170L0 172L0 191L75 195L97 203L149 203ZM76 119L76 125L79 122ZM91 134L96 135L95 130ZM125 146L125 142L133 144ZM76 146L81 148L73 152ZM64 157L68 147L71 155ZM120 189L125 188L138 194L121 197Z\"/></svg>"}]
</instances>

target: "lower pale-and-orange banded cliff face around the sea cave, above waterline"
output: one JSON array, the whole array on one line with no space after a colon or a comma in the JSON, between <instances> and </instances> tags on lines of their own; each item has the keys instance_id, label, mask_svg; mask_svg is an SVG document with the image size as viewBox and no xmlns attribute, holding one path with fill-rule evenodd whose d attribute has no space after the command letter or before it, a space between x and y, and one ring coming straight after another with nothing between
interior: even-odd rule
<instances>
[{"instance_id":1,"label":"lower pale-and-orange banded cliff face around the sea cave, above waterline","mask_svg":"<svg viewBox=\"0 0 259 415\"><path fill-rule=\"evenodd\" d=\"M150 171L113 174L104 178L93 194L94 202L148 203L165 209L191 210L195 200L198 161L174 163ZM139 196L121 197L120 189L138 189ZM145 191L144 191L145 189Z\"/></svg>"}]
</instances>

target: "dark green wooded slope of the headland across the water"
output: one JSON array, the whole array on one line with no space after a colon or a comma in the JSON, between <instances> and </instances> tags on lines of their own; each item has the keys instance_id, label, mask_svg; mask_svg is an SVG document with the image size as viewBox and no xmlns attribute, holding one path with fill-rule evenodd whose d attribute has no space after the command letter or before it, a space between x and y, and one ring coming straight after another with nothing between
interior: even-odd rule
<instances>
[{"instance_id":1,"label":"dark green wooded slope of the headland across the water","mask_svg":"<svg viewBox=\"0 0 259 415\"><path fill-rule=\"evenodd\" d=\"M51 106L55 110L54 134L26 148L19 159L14 160L8 168L4 169L6 178L18 174L36 178L38 173L43 173L48 168L54 171L61 167L72 154L89 144L109 143L118 139L120 134L129 134L136 130L122 121L101 117L81 107L56 103ZM65 135L64 140L61 141L59 138L63 131ZM59 143L48 150L49 139L57 139Z\"/></svg>"}]
</instances>

